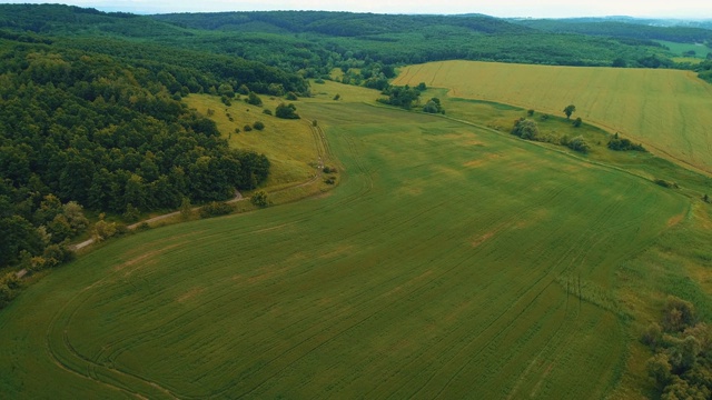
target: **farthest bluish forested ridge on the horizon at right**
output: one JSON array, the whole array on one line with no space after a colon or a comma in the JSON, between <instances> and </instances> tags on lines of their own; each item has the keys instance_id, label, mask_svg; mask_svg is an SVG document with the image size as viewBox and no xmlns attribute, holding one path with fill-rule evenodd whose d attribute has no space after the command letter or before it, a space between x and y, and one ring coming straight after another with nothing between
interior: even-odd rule
<instances>
[{"instance_id":1,"label":"farthest bluish forested ridge on the horizon at right","mask_svg":"<svg viewBox=\"0 0 712 400\"><path fill-rule=\"evenodd\" d=\"M580 33L615 38L668 40L679 43L710 43L712 30L691 27L661 27L645 23L646 20L626 21L606 19L525 19L513 20L522 27L556 33Z\"/></svg>"}]
</instances>

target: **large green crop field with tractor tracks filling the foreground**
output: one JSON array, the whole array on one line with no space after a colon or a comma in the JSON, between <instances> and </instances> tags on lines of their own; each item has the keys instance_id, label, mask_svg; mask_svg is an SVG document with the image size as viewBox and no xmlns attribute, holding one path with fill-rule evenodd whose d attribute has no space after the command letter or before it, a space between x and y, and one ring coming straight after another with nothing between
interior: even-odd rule
<instances>
[{"instance_id":1,"label":"large green crop field with tractor tracks filling the foreground","mask_svg":"<svg viewBox=\"0 0 712 400\"><path fill-rule=\"evenodd\" d=\"M140 232L53 271L0 311L0 392L610 393L631 342L619 267L682 221L689 199L486 128L317 89L297 107L325 128L338 188Z\"/></svg>"}]
</instances>

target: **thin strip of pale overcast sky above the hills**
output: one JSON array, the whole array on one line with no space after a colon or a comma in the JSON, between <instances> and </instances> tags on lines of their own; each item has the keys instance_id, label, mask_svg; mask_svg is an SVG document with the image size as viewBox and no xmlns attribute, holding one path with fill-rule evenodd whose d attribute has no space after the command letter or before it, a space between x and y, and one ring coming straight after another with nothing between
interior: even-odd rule
<instances>
[{"instance_id":1,"label":"thin strip of pale overcast sky above the hills","mask_svg":"<svg viewBox=\"0 0 712 400\"><path fill-rule=\"evenodd\" d=\"M10 0L3 3L42 3L49 1ZM70 0L63 3L92 7L102 11L135 13L212 12L256 10L327 10L379 13L469 13L495 17L674 17L712 18L709 0Z\"/></svg>"}]
</instances>

